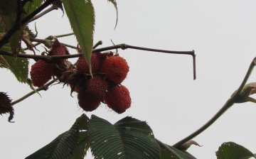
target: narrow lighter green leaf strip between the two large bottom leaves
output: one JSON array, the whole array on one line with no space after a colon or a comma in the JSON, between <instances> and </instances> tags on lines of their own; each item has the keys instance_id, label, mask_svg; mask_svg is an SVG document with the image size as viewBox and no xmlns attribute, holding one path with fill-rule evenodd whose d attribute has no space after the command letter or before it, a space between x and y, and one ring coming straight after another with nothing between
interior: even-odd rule
<instances>
[{"instance_id":1,"label":"narrow lighter green leaf strip between the two large bottom leaves","mask_svg":"<svg viewBox=\"0 0 256 159\"><path fill-rule=\"evenodd\" d=\"M69 159L83 159L87 153L87 150L90 148L89 139L87 135L87 124L89 119L87 116L83 115L80 119L80 133L78 145L75 148L73 155Z\"/></svg>"}]
</instances>

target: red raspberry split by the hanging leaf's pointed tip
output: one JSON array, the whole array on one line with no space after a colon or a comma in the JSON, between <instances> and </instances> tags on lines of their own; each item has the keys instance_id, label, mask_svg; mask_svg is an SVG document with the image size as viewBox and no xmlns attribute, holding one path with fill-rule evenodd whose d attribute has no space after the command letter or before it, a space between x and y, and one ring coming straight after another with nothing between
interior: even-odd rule
<instances>
[{"instance_id":1,"label":"red raspberry split by the hanging leaf's pointed tip","mask_svg":"<svg viewBox=\"0 0 256 159\"><path fill-rule=\"evenodd\" d=\"M95 73L100 70L102 63L102 57L100 53L92 53L91 64L92 64L92 73ZM80 73L90 73L89 65L87 64L85 57L79 57L77 62L77 70Z\"/></svg>"}]
</instances>

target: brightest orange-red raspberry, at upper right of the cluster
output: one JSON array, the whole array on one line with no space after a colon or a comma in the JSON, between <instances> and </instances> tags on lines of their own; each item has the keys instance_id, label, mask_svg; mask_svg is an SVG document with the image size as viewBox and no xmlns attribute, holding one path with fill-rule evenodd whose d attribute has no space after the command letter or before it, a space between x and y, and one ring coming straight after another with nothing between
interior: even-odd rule
<instances>
[{"instance_id":1,"label":"brightest orange-red raspberry, at upper right of the cluster","mask_svg":"<svg viewBox=\"0 0 256 159\"><path fill-rule=\"evenodd\" d=\"M101 71L106 74L107 79L119 84L127 77L129 66L123 57L110 56L103 60Z\"/></svg>"}]
</instances>

